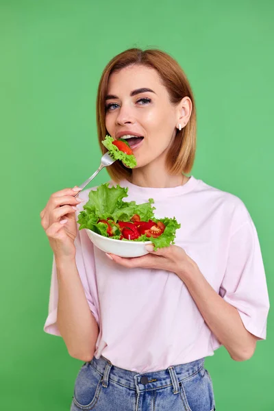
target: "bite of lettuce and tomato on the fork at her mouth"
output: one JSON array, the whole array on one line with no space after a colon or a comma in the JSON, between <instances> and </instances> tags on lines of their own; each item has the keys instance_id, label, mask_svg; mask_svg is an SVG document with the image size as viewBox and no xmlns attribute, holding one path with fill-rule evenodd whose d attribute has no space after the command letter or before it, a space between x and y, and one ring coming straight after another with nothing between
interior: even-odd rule
<instances>
[{"instance_id":1,"label":"bite of lettuce and tomato on the fork at her mouth","mask_svg":"<svg viewBox=\"0 0 274 411\"><path fill-rule=\"evenodd\" d=\"M123 161L125 166L128 166L130 169L133 169L137 165L136 158L127 140L123 138L114 140L114 138L110 136L105 136L105 140L103 140L102 143L105 148L110 151L110 155L112 155L112 158L115 160Z\"/></svg>"}]
</instances>

